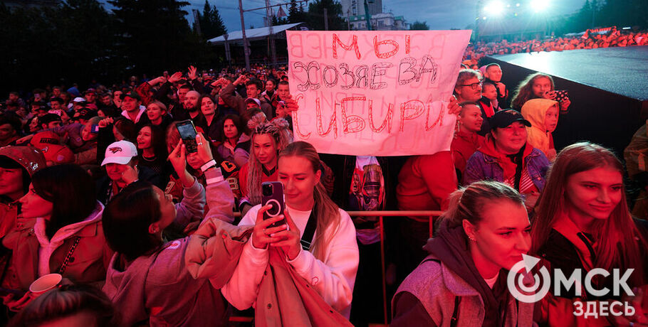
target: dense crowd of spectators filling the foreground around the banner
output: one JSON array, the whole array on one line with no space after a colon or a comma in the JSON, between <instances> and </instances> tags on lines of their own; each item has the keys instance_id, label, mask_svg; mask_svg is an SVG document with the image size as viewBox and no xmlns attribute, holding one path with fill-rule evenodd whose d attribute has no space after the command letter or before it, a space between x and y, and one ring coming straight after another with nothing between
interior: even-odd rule
<instances>
[{"instance_id":1,"label":"dense crowd of spectators filling the foreground around the banner","mask_svg":"<svg viewBox=\"0 0 648 327\"><path fill-rule=\"evenodd\" d=\"M648 218L646 199L631 213L610 150L555 149L571 102L549 75L511 92L502 75L496 64L459 70L444 109L457 116L450 151L409 157L318 154L293 141L301 108L276 68L11 92L0 114L5 318L226 326L234 307L254 308L259 326L366 326L382 321L384 233L394 326L584 323L573 299L605 297L525 304L506 274L533 254L563 272L635 269L629 283L647 284L647 227L635 219ZM187 124L191 139L179 131ZM647 140L644 126L625 153L643 195ZM281 215L263 205L267 182L283 186ZM382 226L347 214L356 210L444 214L429 238L430 218ZM30 291L52 273L62 285ZM642 312L599 322L639 326Z\"/></svg>"}]
</instances>

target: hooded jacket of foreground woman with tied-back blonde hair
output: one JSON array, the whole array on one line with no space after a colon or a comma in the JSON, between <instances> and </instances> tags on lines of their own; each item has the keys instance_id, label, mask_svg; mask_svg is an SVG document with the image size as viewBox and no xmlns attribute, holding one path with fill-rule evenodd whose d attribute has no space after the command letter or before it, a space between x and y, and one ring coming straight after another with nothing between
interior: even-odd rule
<instances>
[{"instance_id":1,"label":"hooded jacket of foreground woman with tied-back blonde hair","mask_svg":"<svg viewBox=\"0 0 648 327\"><path fill-rule=\"evenodd\" d=\"M501 270L491 289L469 252L463 229L442 220L429 252L392 300L392 326L532 326L533 304L516 301Z\"/></svg>"}]
</instances>

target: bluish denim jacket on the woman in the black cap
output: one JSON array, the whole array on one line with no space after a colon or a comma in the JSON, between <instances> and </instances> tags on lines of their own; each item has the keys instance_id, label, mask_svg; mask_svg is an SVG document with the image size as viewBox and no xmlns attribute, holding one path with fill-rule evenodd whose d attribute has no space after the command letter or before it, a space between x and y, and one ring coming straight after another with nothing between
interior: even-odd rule
<instances>
[{"instance_id":1,"label":"bluish denim jacket on the woman in the black cap","mask_svg":"<svg viewBox=\"0 0 648 327\"><path fill-rule=\"evenodd\" d=\"M534 148L531 154L524 157L524 164L529 176L531 176L533 184L538 188L538 191L542 191L545 187L545 175L549 169L549 160L542 151ZM495 157L477 150L468 159L463 184L469 185L470 183L487 179L503 182L504 170L499 166Z\"/></svg>"}]
</instances>

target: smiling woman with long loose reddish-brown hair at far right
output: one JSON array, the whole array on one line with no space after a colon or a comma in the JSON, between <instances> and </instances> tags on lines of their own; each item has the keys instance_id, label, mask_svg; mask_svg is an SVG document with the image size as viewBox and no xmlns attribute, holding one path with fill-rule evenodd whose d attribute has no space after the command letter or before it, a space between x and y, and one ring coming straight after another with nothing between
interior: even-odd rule
<instances>
[{"instance_id":1,"label":"smiling woman with long loose reddish-brown hair at far right","mask_svg":"<svg viewBox=\"0 0 648 327\"><path fill-rule=\"evenodd\" d=\"M623 276L634 269L627 279L629 289L647 282L648 229L644 220L633 220L629 213L621 161L597 144L572 144L556 156L548 176L535 208L531 252L543 257L549 271L560 269L565 276L573 276L576 269L581 277L592 269L605 269L610 276L597 275L592 287L582 287L578 295L574 287L563 287L560 296L550 292L540 302L538 322L548 326L645 326L641 323L648 323L648 318L641 314L640 305L635 306L634 316L597 319L573 314L575 301L618 301L633 295L622 291L613 296L612 269L620 269ZM605 287L610 289L607 295L590 294L592 288ZM633 293L632 301L641 304L643 292L637 294L635 289Z\"/></svg>"}]
</instances>

